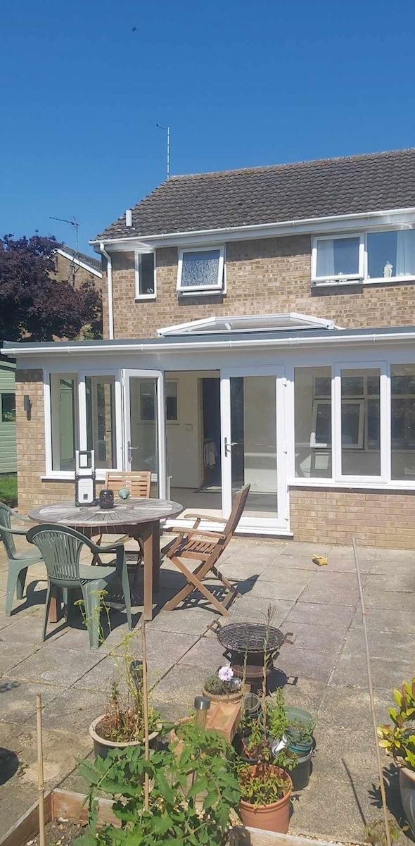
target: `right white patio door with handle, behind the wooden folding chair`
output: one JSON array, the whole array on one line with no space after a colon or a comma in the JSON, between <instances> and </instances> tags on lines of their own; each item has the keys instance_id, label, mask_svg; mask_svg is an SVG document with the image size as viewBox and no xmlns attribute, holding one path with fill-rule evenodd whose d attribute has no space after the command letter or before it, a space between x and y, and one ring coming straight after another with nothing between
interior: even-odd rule
<instances>
[{"instance_id":1,"label":"right white patio door with handle, behind the wooden folding chair","mask_svg":"<svg viewBox=\"0 0 415 846\"><path fill-rule=\"evenodd\" d=\"M241 528L288 528L286 384L282 367L221 371L223 515L250 484Z\"/></svg>"}]
</instances>

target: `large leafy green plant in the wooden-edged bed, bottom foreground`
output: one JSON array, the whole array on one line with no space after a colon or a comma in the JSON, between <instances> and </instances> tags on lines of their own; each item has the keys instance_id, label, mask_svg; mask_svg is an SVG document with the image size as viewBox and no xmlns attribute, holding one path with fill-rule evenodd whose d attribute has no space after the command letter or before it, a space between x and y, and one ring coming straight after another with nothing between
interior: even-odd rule
<instances>
[{"instance_id":1,"label":"large leafy green plant in the wooden-edged bed, bottom foreground","mask_svg":"<svg viewBox=\"0 0 415 846\"><path fill-rule=\"evenodd\" d=\"M197 846L225 843L229 813L238 807L238 779L232 750L221 735L188 725L177 750L156 751L145 761L141 747L112 750L105 759L84 761L90 783L89 828L77 846ZM145 773L150 777L150 809L144 810ZM97 828L97 795L114 800L120 827Z\"/></svg>"}]
</instances>

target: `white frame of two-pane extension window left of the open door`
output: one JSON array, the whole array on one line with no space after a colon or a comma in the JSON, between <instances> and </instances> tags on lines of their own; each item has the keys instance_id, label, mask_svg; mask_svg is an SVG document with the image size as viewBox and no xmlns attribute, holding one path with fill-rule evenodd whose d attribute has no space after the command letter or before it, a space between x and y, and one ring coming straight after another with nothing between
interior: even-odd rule
<instances>
[{"instance_id":1,"label":"white frame of two-pane extension window left of the open door","mask_svg":"<svg viewBox=\"0 0 415 846\"><path fill-rule=\"evenodd\" d=\"M105 479L106 473L111 470L123 470L123 402L122 402L122 386L120 368L91 367L85 371L67 370L43 370L43 405L45 413L45 475L42 480L47 479L62 479L63 481L74 480L74 470L53 470L52 469L52 384L51 377L59 376L76 376L78 378L78 396L77 396L77 414L75 417L75 425L77 427L79 449L87 449L87 429L86 429L86 384L87 376L113 376L114 377L114 417L115 417L115 453L116 453L116 467L97 468L96 479L98 481Z\"/></svg>"}]
</instances>

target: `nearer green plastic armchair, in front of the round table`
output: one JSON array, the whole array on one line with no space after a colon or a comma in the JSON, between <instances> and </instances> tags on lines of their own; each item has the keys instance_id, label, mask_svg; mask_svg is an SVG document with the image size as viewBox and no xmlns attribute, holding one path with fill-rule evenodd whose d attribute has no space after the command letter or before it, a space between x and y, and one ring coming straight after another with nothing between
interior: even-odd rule
<instances>
[{"instance_id":1,"label":"nearer green plastic armchair, in front of the round table","mask_svg":"<svg viewBox=\"0 0 415 846\"><path fill-rule=\"evenodd\" d=\"M85 603L85 624L90 635L90 648L98 649L100 645L100 610L101 591L106 591L112 582L121 583L128 619L128 629L131 631L131 597L129 593L128 570L123 544L101 544L90 541L79 531L68 529L67 526L48 523L34 526L26 535L30 543L34 543L41 552L47 571L47 592L45 622L43 624L42 640L46 637L47 618L52 599L52 585L63 591L65 613L68 617L68 591L76 589L82 591ZM115 552L114 564L91 565L79 562L83 547L88 547L93 556L102 552Z\"/></svg>"}]
</instances>

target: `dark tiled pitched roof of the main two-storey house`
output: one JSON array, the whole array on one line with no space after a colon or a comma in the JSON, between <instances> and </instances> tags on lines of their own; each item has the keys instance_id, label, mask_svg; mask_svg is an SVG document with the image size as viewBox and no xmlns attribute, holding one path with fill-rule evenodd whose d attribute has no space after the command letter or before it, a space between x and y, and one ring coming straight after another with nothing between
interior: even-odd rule
<instances>
[{"instance_id":1,"label":"dark tiled pitched roof of the main two-storey house","mask_svg":"<svg viewBox=\"0 0 415 846\"><path fill-rule=\"evenodd\" d=\"M259 226L415 207L415 148L173 176L97 239Z\"/></svg>"}]
</instances>

